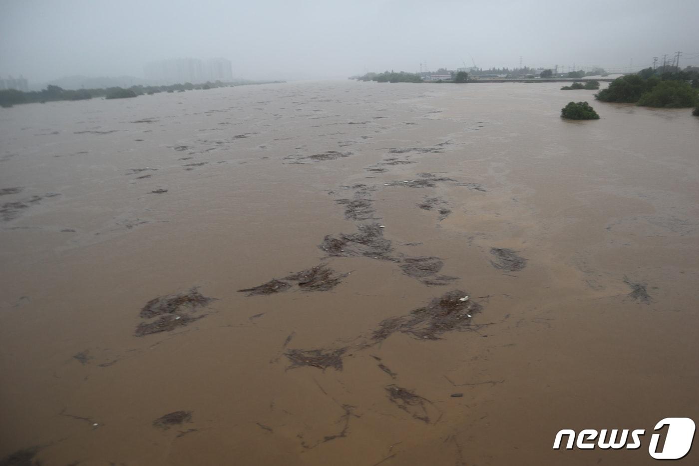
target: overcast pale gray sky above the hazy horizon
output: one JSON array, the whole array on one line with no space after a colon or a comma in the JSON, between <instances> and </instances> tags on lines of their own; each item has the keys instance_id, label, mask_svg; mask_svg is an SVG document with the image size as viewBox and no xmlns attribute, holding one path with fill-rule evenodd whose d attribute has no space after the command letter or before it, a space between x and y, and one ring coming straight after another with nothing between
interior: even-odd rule
<instances>
[{"instance_id":1,"label":"overcast pale gray sky above the hazy horizon","mask_svg":"<svg viewBox=\"0 0 699 466\"><path fill-rule=\"evenodd\" d=\"M233 76L386 69L699 64L697 0L1 0L0 76L143 77L147 62L225 57Z\"/></svg>"}]
</instances>

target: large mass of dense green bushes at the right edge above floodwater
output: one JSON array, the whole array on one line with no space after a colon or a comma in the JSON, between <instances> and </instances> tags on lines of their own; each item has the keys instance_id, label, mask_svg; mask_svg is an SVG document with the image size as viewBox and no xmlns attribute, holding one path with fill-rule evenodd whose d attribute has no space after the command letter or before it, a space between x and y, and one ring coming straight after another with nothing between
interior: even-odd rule
<instances>
[{"instance_id":1,"label":"large mass of dense green bushes at the right edge above floodwater","mask_svg":"<svg viewBox=\"0 0 699 466\"><path fill-rule=\"evenodd\" d=\"M652 68L617 78L595 95L604 102L686 108L699 104L699 69L657 73Z\"/></svg>"}]
</instances>

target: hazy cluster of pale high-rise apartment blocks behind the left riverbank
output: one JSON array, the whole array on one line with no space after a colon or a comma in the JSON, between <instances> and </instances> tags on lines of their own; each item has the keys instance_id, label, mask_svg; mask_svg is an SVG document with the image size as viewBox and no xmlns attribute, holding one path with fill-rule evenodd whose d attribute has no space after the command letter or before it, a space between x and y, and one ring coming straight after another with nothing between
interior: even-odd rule
<instances>
[{"instance_id":1,"label":"hazy cluster of pale high-rise apartment blocks behind the left riverbank","mask_svg":"<svg viewBox=\"0 0 699 466\"><path fill-rule=\"evenodd\" d=\"M152 62L144 68L145 78L154 84L205 83L206 81L231 80L233 71L230 60L175 58Z\"/></svg>"}]
</instances>

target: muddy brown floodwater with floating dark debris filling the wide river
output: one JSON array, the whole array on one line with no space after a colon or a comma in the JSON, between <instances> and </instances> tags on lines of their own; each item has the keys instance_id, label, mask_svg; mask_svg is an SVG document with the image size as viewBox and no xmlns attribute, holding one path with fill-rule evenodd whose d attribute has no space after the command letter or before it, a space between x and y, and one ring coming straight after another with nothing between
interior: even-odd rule
<instances>
[{"instance_id":1,"label":"muddy brown floodwater with floating dark debris filling the wide river","mask_svg":"<svg viewBox=\"0 0 699 466\"><path fill-rule=\"evenodd\" d=\"M699 419L699 119L559 87L1 109L0 464L651 464Z\"/></svg>"}]
</instances>

